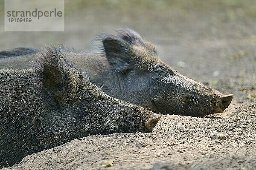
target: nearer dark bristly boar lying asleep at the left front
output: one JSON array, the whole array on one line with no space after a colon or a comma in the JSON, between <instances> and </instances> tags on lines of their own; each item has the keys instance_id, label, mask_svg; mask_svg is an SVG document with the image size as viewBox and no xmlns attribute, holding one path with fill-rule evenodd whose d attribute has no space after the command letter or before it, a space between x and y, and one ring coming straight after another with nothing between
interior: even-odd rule
<instances>
[{"instance_id":1,"label":"nearer dark bristly boar lying asleep at the left front","mask_svg":"<svg viewBox=\"0 0 256 170\"><path fill-rule=\"evenodd\" d=\"M32 69L0 69L0 165L92 134L150 132L159 121L105 94L56 49L40 55Z\"/></svg>"}]
</instances>

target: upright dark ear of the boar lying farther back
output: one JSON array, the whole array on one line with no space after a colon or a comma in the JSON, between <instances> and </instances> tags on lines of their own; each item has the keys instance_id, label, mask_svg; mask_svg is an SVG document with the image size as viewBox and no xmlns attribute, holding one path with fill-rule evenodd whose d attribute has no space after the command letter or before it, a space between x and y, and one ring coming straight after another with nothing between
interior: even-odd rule
<instances>
[{"instance_id":1,"label":"upright dark ear of the boar lying farther back","mask_svg":"<svg viewBox=\"0 0 256 170\"><path fill-rule=\"evenodd\" d=\"M111 68L115 72L124 73L131 69L130 58L126 54L128 43L118 38L106 38L102 40L106 57Z\"/></svg>"}]
</instances>

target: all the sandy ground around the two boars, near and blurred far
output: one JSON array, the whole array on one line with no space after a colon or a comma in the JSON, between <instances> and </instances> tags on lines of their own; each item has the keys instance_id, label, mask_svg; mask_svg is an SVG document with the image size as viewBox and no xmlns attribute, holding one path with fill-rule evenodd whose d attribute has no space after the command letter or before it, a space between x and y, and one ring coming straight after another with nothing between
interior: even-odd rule
<instances>
[{"instance_id":1,"label":"all the sandy ground around the two boars, near and blurred far","mask_svg":"<svg viewBox=\"0 0 256 170\"><path fill-rule=\"evenodd\" d=\"M4 32L0 19L0 50L59 42L90 50L94 34L129 27L181 74L234 99L224 113L165 115L153 133L87 136L12 169L256 169L256 1L74 0L65 10L64 32Z\"/></svg>"}]
</instances>

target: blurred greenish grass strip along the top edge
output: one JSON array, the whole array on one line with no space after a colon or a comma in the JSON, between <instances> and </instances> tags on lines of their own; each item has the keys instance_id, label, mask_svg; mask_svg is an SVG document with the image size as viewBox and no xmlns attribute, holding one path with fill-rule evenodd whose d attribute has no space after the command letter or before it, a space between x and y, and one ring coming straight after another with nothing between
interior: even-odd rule
<instances>
[{"instance_id":1,"label":"blurred greenish grass strip along the top edge","mask_svg":"<svg viewBox=\"0 0 256 170\"><path fill-rule=\"evenodd\" d=\"M4 0L0 0L0 16L4 12ZM65 15L79 10L95 10L101 13L108 10L119 15L135 15L159 11L168 14L169 10L189 13L191 9L212 11L221 9L227 16L256 17L255 0L65 0ZM122 16L121 16L122 17Z\"/></svg>"}]
</instances>

